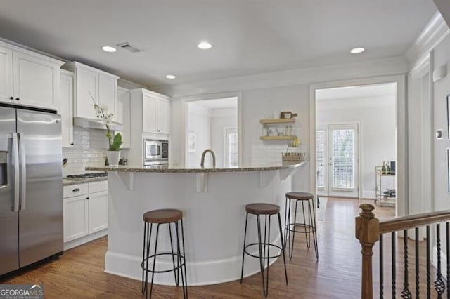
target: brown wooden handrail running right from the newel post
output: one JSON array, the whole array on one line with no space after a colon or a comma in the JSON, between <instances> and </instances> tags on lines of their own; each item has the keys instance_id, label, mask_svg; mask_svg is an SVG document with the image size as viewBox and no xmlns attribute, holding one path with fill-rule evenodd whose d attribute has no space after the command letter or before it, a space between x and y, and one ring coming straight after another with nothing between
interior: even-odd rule
<instances>
[{"instance_id":1,"label":"brown wooden handrail running right from the newel post","mask_svg":"<svg viewBox=\"0 0 450 299\"><path fill-rule=\"evenodd\" d=\"M411 228L447 221L450 221L450 210L397 217L380 221L380 234L409 230Z\"/></svg>"}]
</instances>

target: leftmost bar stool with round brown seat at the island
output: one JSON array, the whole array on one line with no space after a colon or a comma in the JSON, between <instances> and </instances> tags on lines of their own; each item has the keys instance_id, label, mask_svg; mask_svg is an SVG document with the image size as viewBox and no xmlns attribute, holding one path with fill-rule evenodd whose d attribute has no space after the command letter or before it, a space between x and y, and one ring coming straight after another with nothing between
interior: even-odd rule
<instances>
[{"instance_id":1,"label":"leftmost bar stool with round brown seat at the island","mask_svg":"<svg viewBox=\"0 0 450 299\"><path fill-rule=\"evenodd\" d=\"M152 280L150 283L150 298L152 297L153 289L153 277L155 273L165 273L174 272L175 284L179 286L179 274L181 270L181 285L183 287L183 298L188 298L188 283L186 274L186 260L184 251L184 229L183 229L183 212L174 209L162 209L149 211L143 214L143 253L142 253L142 294L148 295L148 272L152 274ZM181 241L183 242L183 252L180 252L180 239L179 239L179 222L181 222ZM153 254L150 255L150 241L152 236L153 224L156 227L156 239L155 239L155 250ZM170 248L169 253L157 253L158 249L158 234L160 232L160 225L169 225L169 237L170 237ZM174 252L174 246L172 241L172 224L175 227L176 235L176 252ZM149 227L150 226L150 227ZM155 270L156 257L161 255L171 255L173 268L169 270ZM148 260L153 258L152 269L148 268ZM176 258L176 265L175 265Z\"/></svg>"}]
</instances>

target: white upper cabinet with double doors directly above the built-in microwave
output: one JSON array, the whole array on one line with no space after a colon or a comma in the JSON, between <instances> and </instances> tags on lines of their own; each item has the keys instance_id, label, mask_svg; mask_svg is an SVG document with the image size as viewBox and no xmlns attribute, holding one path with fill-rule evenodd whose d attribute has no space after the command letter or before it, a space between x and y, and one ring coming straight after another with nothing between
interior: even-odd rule
<instances>
[{"instance_id":1,"label":"white upper cabinet with double doors directly above the built-in microwave","mask_svg":"<svg viewBox=\"0 0 450 299\"><path fill-rule=\"evenodd\" d=\"M134 117L141 119L143 133L169 135L170 101L167 96L139 88L131 91L131 102L135 112L133 121Z\"/></svg>"}]
</instances>

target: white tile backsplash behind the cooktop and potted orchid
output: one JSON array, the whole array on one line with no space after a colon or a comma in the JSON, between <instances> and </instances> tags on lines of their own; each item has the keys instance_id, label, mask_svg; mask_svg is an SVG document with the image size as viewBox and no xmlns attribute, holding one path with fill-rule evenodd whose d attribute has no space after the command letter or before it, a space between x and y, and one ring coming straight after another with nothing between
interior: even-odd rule
<instances>
[{"instance_id":1,"label":"white tile backsplash behind the cooktop and potted orchid","mask_svg":"<svg viewBox=\"0 0 450 299\"><path fill-rule=\"evenodd\" d=\"M106 150L108 140L105 130L94 128L73 128L73 147L63 148L63 158L68 159L68 163L63 167L63 176L86 173L86 166L105 165Z\"/></svg>"}]
</instances>

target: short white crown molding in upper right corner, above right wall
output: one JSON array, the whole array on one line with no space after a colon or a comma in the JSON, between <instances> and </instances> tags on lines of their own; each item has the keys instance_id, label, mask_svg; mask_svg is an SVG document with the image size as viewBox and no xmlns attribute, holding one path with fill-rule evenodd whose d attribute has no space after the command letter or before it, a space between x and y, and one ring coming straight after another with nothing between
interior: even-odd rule
<instances>
[{"instance_id":1,"label":"short white crown molding in upper right corner, above right wall","mask_svg":"<svg viewBox=\"0 0 450 299\"><path fill-rule=\"evenodd\" d=\"M411 67L416 65L416 62L426 59L425 56L445 39L449 33L449 26L447 26L439 11L436 11L430 22L420 32L416 41L406 51L406 59L410 62Z\"/></svg>"}]
</instances>

